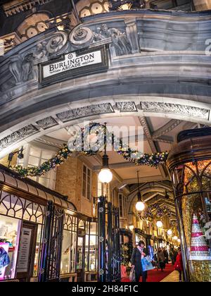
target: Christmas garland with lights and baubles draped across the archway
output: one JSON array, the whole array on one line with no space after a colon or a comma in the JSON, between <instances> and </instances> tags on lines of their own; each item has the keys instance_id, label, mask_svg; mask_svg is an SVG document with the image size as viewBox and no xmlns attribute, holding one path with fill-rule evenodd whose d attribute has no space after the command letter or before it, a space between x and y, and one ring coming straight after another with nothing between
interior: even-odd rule
<instances>
[{"instance_id":1,"label":"Christmas garland with lights and baubles draped across the archway","mask_svg":"<svg viewBox=\"0 0 211 296\"><path fill-rule=\"evenodd\" d=\"M93 132L93 130L95 131ZM102 132L103 137L98 137ZM94 144L90 144L90 136L96 136L98 137L98 140L94 142ZM72 156L75 151L80 151L87 156L91 156L103 151L105 145L108 144L112 144L113 150L117 152L117 154L121 155L127 161L133 162L137 166L146 165L158 168L159 164L165 164L168 156L168 152L143 154L132 150L127 147L126 144L123 144L122 140L115 139L113 134L108 132L106 125L91 123L88 128L82 128L80 133L76 133L74 140L71 143L68 143L68 145L64 144L63 148L60 149L53 158L49 159L49 161L45 161L41 166L23 168L23 166L18 165L12 167L12 169L18 172L23 178L44 175L63 164L63 162L66 161L69 156Z\"/></svg>"}]
</instances>

